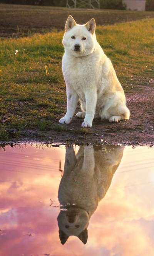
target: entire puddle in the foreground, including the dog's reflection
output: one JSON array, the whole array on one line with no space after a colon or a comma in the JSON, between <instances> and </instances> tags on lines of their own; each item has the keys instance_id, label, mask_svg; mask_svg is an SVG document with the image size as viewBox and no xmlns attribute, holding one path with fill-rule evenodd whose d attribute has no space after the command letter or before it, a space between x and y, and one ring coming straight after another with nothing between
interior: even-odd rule
<instances>
[{"instance_id":1,"label":"entire puddle in the foreground, including the dog's reflection","mask_svg":"<svg viewBox=\"0 0 154 256\"><path fill-rule=\"evenodd\" d=\"M153 253L154 148L0 149L0 255Z\"/></svg>"}]
</instances>

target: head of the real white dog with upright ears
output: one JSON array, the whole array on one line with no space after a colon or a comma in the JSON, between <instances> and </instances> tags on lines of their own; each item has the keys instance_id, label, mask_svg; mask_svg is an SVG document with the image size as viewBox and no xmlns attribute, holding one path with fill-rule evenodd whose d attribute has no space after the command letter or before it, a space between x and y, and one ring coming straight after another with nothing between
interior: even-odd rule
<instances>
[{"instance_id":1,"label":"head of the real white dog with upright ears","mask_svg":"<svg viewBox=\"0 0 154 256\"><path fill-rule=\"evenodd\" d=\"M92 53L96 44L95 20L91 19L85 25L79 25L72 16L69 16L62 43L65 50L75 57Z\"/></svg>"}]
</instances>

